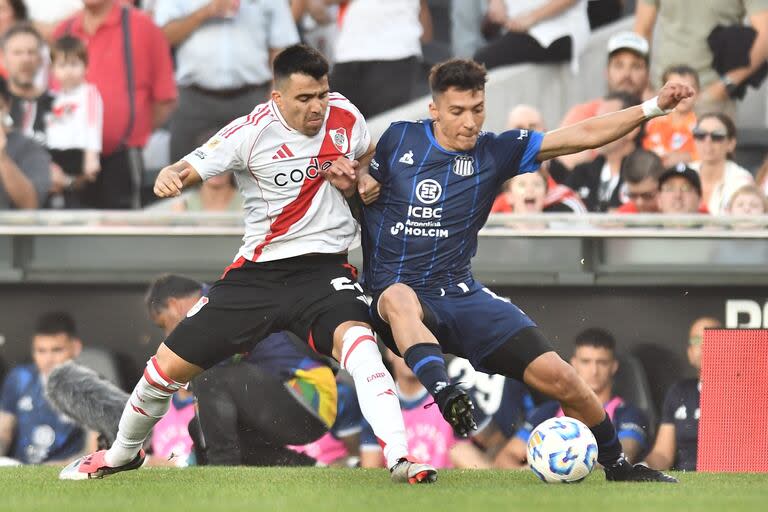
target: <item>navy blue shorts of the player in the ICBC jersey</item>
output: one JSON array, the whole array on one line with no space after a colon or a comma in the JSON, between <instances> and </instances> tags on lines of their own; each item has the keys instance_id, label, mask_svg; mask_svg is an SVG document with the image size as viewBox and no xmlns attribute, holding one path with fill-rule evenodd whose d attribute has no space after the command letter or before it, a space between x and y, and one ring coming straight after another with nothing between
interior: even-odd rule
<instances>
[{"instance_id":1,"label":"navy blue shorts of the player in the ICBC jersey","mask_svg":"<svg viewBox=\"0 0 768 512\"><path fill-rule=\"evenodd\" d=\"M472 366L485 373L499 373L483 364L483 361L502 345L511 342L523 329L536 327L536 323L508 299L499 297L478 281L460 283L435 293L416 295L424 310L424 324L432 331L443 352L468 359ZM399 353L392 338L389 325L379 316L379 294L374 294L371 303L373 328L387 347ZM552 348L548 343L538 343L537 352L544 353ZM514 347L512 347L514 350ZM523 348L526 359L529 348ZM540 355L540 354L534 354ZM530 362L530 361L528 361ZM518 372L515 372L518 373ZM520 379L522 375L507 375Z\"/></svg>"}]
</instances>

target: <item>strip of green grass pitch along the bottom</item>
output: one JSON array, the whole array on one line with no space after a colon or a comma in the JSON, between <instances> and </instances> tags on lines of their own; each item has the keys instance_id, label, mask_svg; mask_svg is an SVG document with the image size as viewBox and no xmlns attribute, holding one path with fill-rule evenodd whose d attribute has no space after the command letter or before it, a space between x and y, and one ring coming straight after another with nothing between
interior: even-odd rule
<instances>
[{"instance_id":1,"label":"strip of green grass pitch along the bottom","mask_svg":"<svg viewBox=\"0 0 768 512\"><path fill-rule=\"evenodd\" d=\"M601 471L577 485L545 485L528 471L445 470L434 485L395 485L384 470L146 468L62 482L59 468L0 468L0 511L374 512L758 511L768 474L680 473L677 485L609 484Z\"/></svg>"}]
</instances>

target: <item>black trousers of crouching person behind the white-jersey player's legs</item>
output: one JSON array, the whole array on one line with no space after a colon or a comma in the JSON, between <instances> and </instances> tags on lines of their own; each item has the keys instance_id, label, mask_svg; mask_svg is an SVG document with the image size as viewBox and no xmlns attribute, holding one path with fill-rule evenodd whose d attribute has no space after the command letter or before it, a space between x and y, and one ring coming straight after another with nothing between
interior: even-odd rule
<instances>
[{"instance_id":1,"label":"black trousers of crouching person behind the white-jersey player's legs","mask_svg":"<svg viewBox=\"0 0 768 512\"><path fill-rule=\"evenodd\" d=\"M285 448L327 431L323 421L272 374L250 363L215 366L192 381L212 465L308 466Z\"/></svg>"}]
</instances>

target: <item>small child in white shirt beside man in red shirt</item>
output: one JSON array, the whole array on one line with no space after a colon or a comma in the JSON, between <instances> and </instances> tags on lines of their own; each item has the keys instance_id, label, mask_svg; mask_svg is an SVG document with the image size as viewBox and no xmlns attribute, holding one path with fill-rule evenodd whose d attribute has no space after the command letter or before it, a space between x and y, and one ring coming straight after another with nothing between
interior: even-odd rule
<instances>
[{"instance_id":1,"label":"small child in white shirt beside man in red shirt","mask_svg":"<svg viewBox=\"0 0 768 512\"><path fill-rule=\"evenodd\" d=\"M83 187L94 182L101 171L104 108L96 86L85 81L88 54L80 39L57 39L51 47L51 60L59 90L45 120L47 146L68 178L60 197L62 206L77 208L82 206Z\"/></svg>"}]
</instances>

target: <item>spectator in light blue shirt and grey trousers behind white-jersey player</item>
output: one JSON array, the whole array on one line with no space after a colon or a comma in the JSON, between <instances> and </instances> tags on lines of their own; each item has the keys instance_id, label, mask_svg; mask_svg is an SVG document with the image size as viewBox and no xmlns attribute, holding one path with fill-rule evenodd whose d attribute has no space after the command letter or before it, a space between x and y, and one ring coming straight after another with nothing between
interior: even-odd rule
<instances>
[{"instance_id":1,"label":"spectator in light blue shirt and grey trousers behind white-jersey player","mask_svg":"<svg viewBox=\"0 0 768 512\"><path fill-rule=\"evenodd\" d=\"M171 161L204 133L247 115L272 87L271 63L299 42L288 2L158 0L155 22L176 50L179 106L171 118Z\"/></svg>"}]
</instances>

